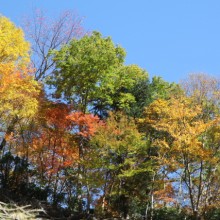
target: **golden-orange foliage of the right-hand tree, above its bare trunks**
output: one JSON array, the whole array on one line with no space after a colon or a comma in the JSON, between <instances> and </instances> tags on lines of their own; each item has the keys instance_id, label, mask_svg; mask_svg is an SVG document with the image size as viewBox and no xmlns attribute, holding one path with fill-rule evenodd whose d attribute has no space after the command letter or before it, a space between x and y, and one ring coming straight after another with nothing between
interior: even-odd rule
<instances>
[{"instance_id":1,"label":"golden-orange foliage of the right-hand tree, above its bare trunks","mask_svg":"<svg viewBox=\"0 0 220 220\"><path fill-rule=\"evenodd\" d=\"M208 160L210 152L204 148L201 137L212 123L204 121L202 114L202 107L187 97L154 101L145 111L144 123L163 132L163 138L153 141L155 146L159 146L159 155L176 160L183 155Z\"/></svg>"}]
</instances>

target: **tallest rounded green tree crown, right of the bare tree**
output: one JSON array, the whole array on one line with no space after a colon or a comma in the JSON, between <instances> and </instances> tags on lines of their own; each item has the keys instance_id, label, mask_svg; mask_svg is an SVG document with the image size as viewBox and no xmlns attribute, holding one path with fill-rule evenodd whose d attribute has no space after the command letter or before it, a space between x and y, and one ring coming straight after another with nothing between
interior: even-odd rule
<instances>
[{"instance_id":1,"label":"tallest rounded green tree crown, right of the bare tree","mask_svg":"<svg viewBox=\"0 0 220 220\"><path fill-rule=\"evenodd\" d=\"M49 78L58 96L64 95L74 106L86 112L89 104L109 93L103 93L106 84L111 91L115 71L124 61L125 52L115 46L112 40L93 32L82 39L73 39L59 51L54 51L57 71Z\"/></svg>"}]
</instances>

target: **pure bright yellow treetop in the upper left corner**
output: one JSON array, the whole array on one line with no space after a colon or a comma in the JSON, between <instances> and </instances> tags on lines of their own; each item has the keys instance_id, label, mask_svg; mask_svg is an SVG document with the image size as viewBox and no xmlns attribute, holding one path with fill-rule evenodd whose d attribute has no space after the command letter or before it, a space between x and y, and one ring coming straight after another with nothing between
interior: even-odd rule
<instances>
[{"instance_id":1,"label":"pure bright yellow treetop in the upper left corner","mask_svg":"<svg viewBox=\"0 0 220 220\"><path fill-rule=\"evenodd\" d=\"M23 31L8 18L0 16L0 63L28 63L30 61L29 48Z\"/></svg>"}]
</instances>

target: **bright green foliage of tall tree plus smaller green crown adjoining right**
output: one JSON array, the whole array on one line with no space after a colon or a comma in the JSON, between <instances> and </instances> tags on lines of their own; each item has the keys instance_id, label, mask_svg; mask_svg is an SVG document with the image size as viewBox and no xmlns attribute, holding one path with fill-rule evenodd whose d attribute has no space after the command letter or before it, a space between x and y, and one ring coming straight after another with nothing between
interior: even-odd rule
<instances>
[{"instance_id":1,"label":"bright green foliage of tall tree plus smaller green crown adjoining right","mask_svg":"<svg viewBox=\"0 0 220 220\"><path fill-rule=\"evenodd\" d=\"M100 114L129 109L137 101L132 89L148 79L138 66L124 66L125 51L98 32L73 39L52 54L57 71L48 83L83 112L88 107Z\"/></svg>"}]
</instances>

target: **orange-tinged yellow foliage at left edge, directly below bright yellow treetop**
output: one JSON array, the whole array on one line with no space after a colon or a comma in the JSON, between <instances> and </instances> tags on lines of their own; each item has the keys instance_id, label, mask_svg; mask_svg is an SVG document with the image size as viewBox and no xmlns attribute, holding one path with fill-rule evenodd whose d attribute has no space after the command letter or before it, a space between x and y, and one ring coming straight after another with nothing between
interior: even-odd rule
<instances>
[{"instance_id":1,"label":"orange-tinged yellow foliage at left edge, directly below bright yellow treetop","mask_svg":"<svg viewBox=\"0 0 220 220\"><path fill-rule=\"evenodd\" d=\"M38 110L40 85L26 67L0 63L0 113L2 117L27 118Z\"/></svg>"}]
</instances>

